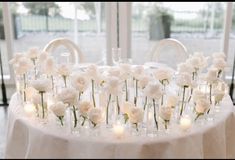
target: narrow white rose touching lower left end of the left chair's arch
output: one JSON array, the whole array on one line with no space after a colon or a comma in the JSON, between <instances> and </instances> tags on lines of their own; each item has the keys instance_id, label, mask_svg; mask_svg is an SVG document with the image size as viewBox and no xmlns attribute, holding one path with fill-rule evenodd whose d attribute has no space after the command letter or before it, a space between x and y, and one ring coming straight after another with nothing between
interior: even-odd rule
<instances>
[{"instance_id":1,"label":"narrow white rose touching lower left end of the left chair's arch","mask_svg":"<svg viewBox=\"0 0 235 160\"><path fill-rule=\"evenodd\" d=\"M54 61L53 57L48 57L45 60L42 68L43 68L43 73L45 73L47 75L55 75L56 65L55 65L55 61Z\"/></svg>"}]
</instances>

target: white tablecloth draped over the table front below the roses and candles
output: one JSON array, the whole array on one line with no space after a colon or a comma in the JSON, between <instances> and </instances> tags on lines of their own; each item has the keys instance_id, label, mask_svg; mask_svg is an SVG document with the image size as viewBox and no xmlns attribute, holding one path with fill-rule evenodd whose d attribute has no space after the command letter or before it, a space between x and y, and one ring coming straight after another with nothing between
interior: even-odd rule
<instances>
[{"instance_id":1,"label":"white tablecloth draped over the table front below the roses and candles","mask_svg":"<svg viewBox=\"0 0 235 160\"><path fill-rule=\"evenodd\" d=\"M6 158L235 158L235 115L227 95L212 122L190 132L157 137L77 136L24 115L14 94L9 105Z\"/></svg>"}]
</instances>

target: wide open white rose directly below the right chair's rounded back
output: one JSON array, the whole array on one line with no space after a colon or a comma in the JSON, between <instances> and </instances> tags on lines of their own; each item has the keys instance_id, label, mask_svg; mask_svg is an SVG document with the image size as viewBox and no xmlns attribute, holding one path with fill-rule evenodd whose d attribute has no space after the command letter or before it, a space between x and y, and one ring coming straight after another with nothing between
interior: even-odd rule
<instances>
[{"instance_id":1,"label":"wide open white rose directly below the right chair's rounded back","mask_svg":"<svg viewBox=\"0 0 235 160\"><path fill-rule=\"evenodd\" d=\"M159 81L167 80L168 82L171 80L173 75L172 70L168 68L159 68L155 70L153 74Z\"/></svg>"}]
</instances>

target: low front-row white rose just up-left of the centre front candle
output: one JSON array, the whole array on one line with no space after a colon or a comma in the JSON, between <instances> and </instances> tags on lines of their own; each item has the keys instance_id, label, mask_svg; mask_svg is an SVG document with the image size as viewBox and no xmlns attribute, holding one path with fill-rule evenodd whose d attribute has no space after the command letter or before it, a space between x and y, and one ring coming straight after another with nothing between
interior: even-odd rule
<instances>
[{"instance_id":1,"label":"low front-row white rose just up-left of the centre front candle","mask_svg":"<svg viewBox=\"0 0 235 160\"><path fill-rule=\"evenodd\" d=\"M88 117L94 124L99 124L103 121L102 110L100 108L91 108L88 112Z\"/></svg>"}]
</instances>

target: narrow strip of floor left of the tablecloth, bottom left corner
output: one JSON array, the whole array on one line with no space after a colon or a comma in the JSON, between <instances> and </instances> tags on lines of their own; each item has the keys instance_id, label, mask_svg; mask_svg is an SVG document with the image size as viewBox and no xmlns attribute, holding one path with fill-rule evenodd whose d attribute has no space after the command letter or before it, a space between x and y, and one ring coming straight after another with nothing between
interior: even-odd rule
<instances>
[{"instance_id":1,"label":"narrow strip of floor left of the tablecloth, bottom left corner","mask_svg":"<svg viewBox=\"0 0 235 160\"><path fill-rule=\"evenodd\" d=\"M0 159L5 158L7 107L0 106Z\"/></svg>"}]
</instances>

